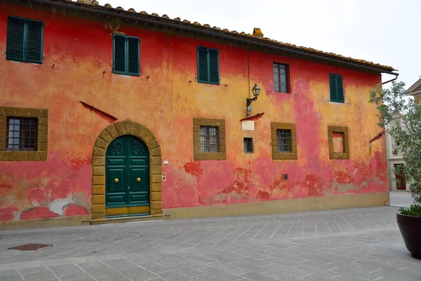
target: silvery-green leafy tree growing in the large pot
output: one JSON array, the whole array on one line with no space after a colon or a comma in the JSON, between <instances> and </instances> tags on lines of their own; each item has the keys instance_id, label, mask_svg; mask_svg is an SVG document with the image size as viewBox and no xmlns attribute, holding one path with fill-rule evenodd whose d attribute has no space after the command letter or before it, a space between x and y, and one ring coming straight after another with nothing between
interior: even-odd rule
<instances>
[{"instance_id":1,"label":"silvery-green leafy tree growing in the large pot","mask_svg":"<svg viewBox=\"0 0 421 281\"><path fill-rule=\"evenodd\" d=\"M408 98L404 87L405 83L402 81L392 81L390 89L382 89L378 85L375 90L370 91L370 103L377 105L377 116L380 117L378 125L385 130L396 115L401 117L387 131L399 143L393 154L396 155L400 150L405 160L405 164L395 169L394 173L405 175L415 204L409 209L401 208L399 211L402 214L421 216L421 103Z\"/></svg>"}]
</instances>

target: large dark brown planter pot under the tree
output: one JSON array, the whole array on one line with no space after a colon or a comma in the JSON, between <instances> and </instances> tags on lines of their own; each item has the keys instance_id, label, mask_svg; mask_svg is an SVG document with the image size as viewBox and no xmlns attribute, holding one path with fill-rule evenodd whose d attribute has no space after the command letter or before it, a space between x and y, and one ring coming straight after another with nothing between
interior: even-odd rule
<instances>
[{"instance_id":1,"label":"large dark brown planter pot under the tree","mask_svg":"<svg viewBox=\"0 0 421 281\"><path fill-rule=\"evenodd\" d=\"M421 259L421 216L396 214L399 230L406 249L416 259Z\"/></svg>"}]
</instances>

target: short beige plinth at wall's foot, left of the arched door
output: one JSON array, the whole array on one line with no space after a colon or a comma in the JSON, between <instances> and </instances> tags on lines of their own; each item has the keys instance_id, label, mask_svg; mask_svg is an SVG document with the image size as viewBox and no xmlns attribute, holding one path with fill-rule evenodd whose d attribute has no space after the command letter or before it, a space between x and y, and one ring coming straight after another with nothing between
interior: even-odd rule
<instances>
[{"instance_id":1,"label":"short beige plinth at wall's foot, left of the arched door","mask_svg":"<svg viewBox=\"0 0 421 281\"><path fill-rule=\"evenodd\" d=\"M85 216L62 216L60 218L39 218L21 221L0 221L0 229L21 229L21 228L59 228L62 226L83 226L89 225L91 215Z\"/></svg>"}]
</instances>

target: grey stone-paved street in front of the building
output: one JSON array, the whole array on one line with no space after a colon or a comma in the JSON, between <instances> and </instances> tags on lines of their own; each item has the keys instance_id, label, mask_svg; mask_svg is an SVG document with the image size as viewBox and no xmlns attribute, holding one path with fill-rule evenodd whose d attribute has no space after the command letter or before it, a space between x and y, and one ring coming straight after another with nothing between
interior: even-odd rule
<instances>
[{"instance_id":1,"label":"grey stone-paved street in front of the building","mask_svg":"<svg viewBox=\"0 0 421 281\"><path fill-rule=\"evenodd\" d=\"M3 230L0 280L421 280L396 209Z\"/></svg>"}]
</instances>

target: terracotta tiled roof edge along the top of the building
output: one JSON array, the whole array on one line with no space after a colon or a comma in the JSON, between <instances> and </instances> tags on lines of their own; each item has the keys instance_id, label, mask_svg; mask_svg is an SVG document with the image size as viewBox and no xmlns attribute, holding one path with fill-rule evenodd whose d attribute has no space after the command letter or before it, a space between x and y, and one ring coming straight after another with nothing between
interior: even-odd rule
<instances>
[{"instance_id":1,"label":"terracotta tiled roof edge along the top of the building","mask_svg":"<svg viewBox=\"0 0 421 281\"><path fill-rule=\"evenodd\" d=\"M51 1L53 1L53 0L51 0ZM75 1L72 1L72 0L67 0L67 1L68 2L72 2L72 3L75 3ZM98 1L97 0L76 0L76 2L77 3L80 3L80 4L87 4L87 5L92 5L92 6L100 6L98 4ZM105 4L103 7L105 7L105 8L112 8L112 6L110 4ZM119 11L123 10L123 8L121 8L120 6L119 7L116 7L115 9L117 9ZM135 13L135 10L133 8L128 9L128 11ZM140 12L140 14L141 15L147 15L147 13L145 11ZM151 15L154 16L154 17L159 17L159 15L157 13L152 13ZM163 19L166 19L166 20L171 20L168 17L168 15L162 15L162 17L159 17L159 18L163 18ZM180 22L181 20L180 20L180 18L175 18L174 21ZM236 34L238 36L248 37L248 38L252 37L253 40L267 42L268 44L277 44L279 46L286 46L288 48L294 48L295 50L298 50L298 51L304 51L304 52L312 53L312 54L316 54L316 55L323 55L323 56L330 57L330 58L336 58L338 60L346 60L347 62L350 62L350 63L359 63L359 64L363 64L363 65L367 65L367 66L380 67L380 68L382 68L384 70L388 70L388 71L393 71L394 70L394 67L390 67L390 66L387 66L387 65L380 65L379 63L372 63L372 62L370 62L368 60L361 60L361 59L356 59L356 58L349 58L349 57L346 57L345 55L338 55L336 53L319 51L319 50L316 50L314 48L307 48L305 46L296 46L294 44L283 43L281 41L276 41L274 39L269 39L267 37L253 36L253 34L246 34L245 32L239 33L239 32L236 32L235 30L233 30L233 31L229 31L227 29L221 30L220 27L210 27L210 25L208 25L208 24L201 25L199 22L193 22L192 23L189 20L182 20L182 22L184 22L187 25L194 25L195 27L212 28L213 30L218 31L218 32L222 32L222 33L225 32L225 33L228 33L228 34Z\"/></svg>"}]
</instances>

